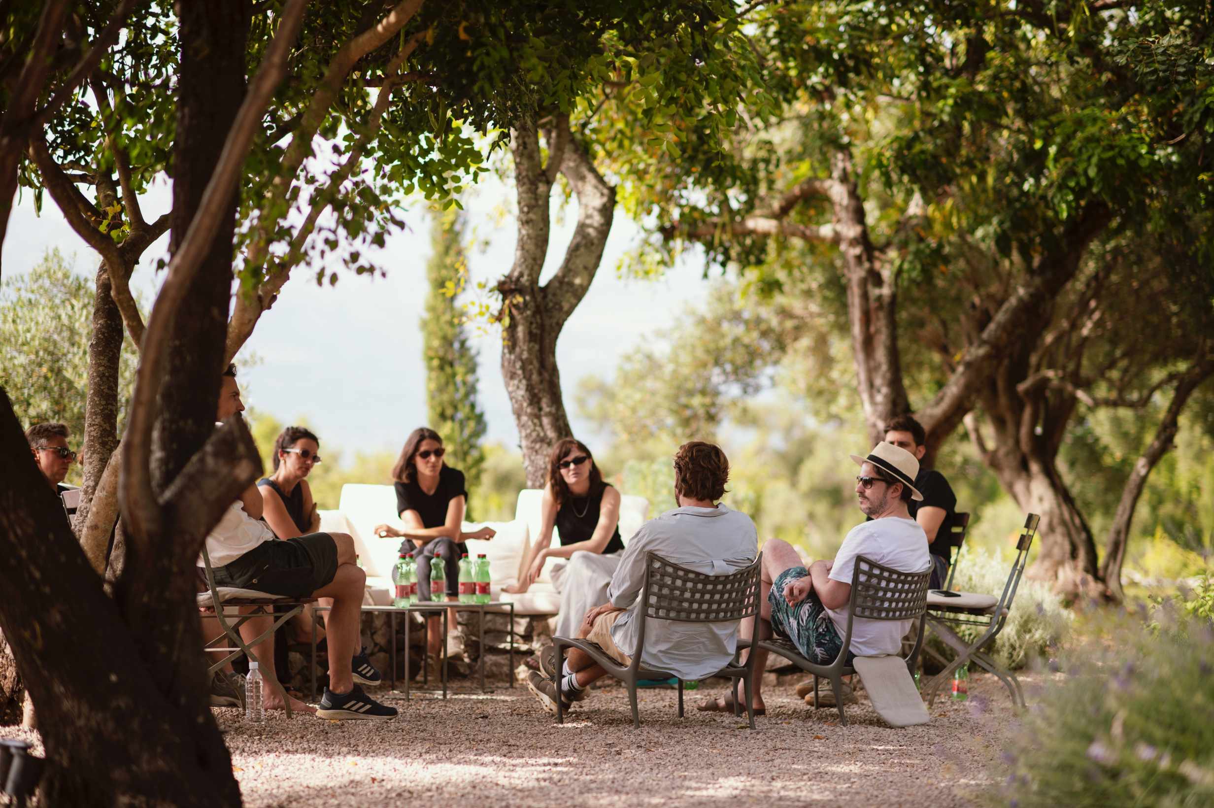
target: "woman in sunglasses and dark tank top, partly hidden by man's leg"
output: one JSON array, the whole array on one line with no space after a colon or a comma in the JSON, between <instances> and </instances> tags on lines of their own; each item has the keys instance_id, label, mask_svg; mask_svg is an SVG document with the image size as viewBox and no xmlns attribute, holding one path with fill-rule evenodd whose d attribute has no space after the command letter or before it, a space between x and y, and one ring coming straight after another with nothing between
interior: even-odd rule
<instances>
[{"instance_id":1,"label":"woman in sunglasses and dark tank top, partly hidden by man's leg","mask_svg":"<svg viewBox=\"0 0 1214 808\"><path fill-rule=\"evenodd\" d=\"M257 493L261 494L262 520L282 540L320 531L320 514L312 499L312 489L305 479L320 462L319 451L320 439L304 427L287 427L274 439L274 451L271 457L274 472L257 480ZM320 598L317 604L331 608L333 598ZM313 620L312 607L308 605L291 621L296 642L312 641ZM324 638L323 626L320 622L316 627L318 641ZM282 659L276 660L278 662L276 670L288 670L287 643L274 643L274 653L282 654Z\"/></svg>"}]
</instances>

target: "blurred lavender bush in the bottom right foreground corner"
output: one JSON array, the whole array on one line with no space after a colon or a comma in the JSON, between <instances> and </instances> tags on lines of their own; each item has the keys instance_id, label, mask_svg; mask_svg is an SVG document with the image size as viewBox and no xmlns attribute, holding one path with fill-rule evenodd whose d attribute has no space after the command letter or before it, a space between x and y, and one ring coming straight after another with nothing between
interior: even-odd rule
<instances>
[{"instance_id":1,"label":"blurred lavender bush in the bottom right foreground corner","mask_svg":"<svg viewBox=\"0 0 1214 808\"><path fill-rule=\"evenodd\" d=\"M1004 753L998 804L1196 807L1214 801L1214 631L1157 615L1158 630L1101 615L1062 655Z\"/></svg>"}]
</instances>

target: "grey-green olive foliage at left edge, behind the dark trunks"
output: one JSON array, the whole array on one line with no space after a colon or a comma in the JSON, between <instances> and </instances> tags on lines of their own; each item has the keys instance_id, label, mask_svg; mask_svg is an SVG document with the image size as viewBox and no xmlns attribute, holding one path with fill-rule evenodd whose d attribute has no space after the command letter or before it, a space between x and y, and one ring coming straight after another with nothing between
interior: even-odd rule
<instances>
[{"instance_id":1,"label":"grey-green olive foliage at left edge, behind the dark trunks","mask_svg":"<svg viewBox=\"0 0 1214 808\"><path fill-rule=\"evenodd\" d=\"M0 289L0 387L22 425L61 421L69 444L81 449L89 392L89 340L93 284L50 250L25 274L6 274ZM137 357L123 342L119 364L119 423L135 383ZM121 428L121 427L119 427ZM70 478L80 473L72 467Z\"/></svg>"}]
</instances>

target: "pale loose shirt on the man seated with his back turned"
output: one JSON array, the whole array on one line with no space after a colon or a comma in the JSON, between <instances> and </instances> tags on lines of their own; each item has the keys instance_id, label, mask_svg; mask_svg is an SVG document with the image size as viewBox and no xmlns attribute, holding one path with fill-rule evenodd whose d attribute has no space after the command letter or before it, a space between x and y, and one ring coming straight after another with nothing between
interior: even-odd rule
<instances>
[{"instance_id":1,"label":"pale loose shirt on the man seated with his back turned","mask_svg":"<svg viewBox=\"0 0 1214 808\"><path fill-rule=\"evenodd\" d=\"M613 605L630 607L611 630L615 645L629 656L636 650L645 553L651 551L697 573L728 575L754 563L759 533L750 517L724 505L675 508L642 524L624 548L607 590ZM676 622L646 618L641 664L681 679L702 679L728 665L737 644L737 621Z\"/></svg>"}]
</instances>

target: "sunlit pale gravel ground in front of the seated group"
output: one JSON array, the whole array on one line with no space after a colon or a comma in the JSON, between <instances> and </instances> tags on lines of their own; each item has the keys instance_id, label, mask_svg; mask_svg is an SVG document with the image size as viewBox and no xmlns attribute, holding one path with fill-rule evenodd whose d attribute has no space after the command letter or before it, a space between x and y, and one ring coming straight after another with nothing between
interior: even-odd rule
<instances>
[{"instance_id":1,"label":"sunlit pale gravel ground in front of the seated group","mask_svg":"<svg viewBox=\"0 0 1214 808\"><path fill-rule=\"evenodd\" d=\"M1023 677L1026 684L1034 677ZM391 722L272 715L249 724L215 710L232 750L245 806L969 806L989 783L1015 712L1003 685L970 679L970 700L940 700L931 723L886 727L861 694L850 726L813 711L792 687L766 689L767 716L697 712L725 688L643 690L641 729L628 694L595 690L565 726L523 685L454 694L447 701L379 698L401 709ZM17 728L0 735L16 736Z\"/></svg>"}]
</instances>

